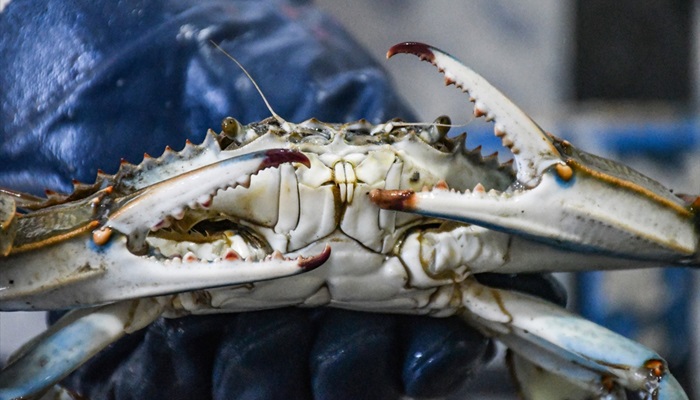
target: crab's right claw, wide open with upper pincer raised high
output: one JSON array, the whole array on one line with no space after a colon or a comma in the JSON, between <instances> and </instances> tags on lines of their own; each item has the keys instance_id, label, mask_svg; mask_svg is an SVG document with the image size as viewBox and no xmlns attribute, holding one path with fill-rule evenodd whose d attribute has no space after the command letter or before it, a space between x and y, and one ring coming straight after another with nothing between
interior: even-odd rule
<instances>
[{"instance_id":1,"label":"crab's right claw, wide open with upper pincer raised high","mask_svg":"<svg viewBox=\"0 0 700 400\"><path fill-rule=\"evenodd\" d=\"M474 114L495 123L517 180L500 192L476 185L463 193L376 190L382 208L459 220L576 252L663 263L698 263L693 207L654 180L545 133L484 78L422 43L392 47L412 53L468 92Z\"/></svg>"}]
</instances>

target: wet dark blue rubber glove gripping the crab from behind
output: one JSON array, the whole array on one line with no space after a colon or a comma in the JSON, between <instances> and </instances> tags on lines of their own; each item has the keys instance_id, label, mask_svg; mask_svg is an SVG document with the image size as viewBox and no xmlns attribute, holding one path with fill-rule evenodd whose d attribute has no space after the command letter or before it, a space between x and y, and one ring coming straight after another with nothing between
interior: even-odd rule
<instances>
[{"instance_id":1,"label":"wet dark blue rubber glove gripping the crab from behind","mask_svg":"<svg viewBox=\"0 0 700 400\"><path fill-rule=\"evenodd\" d=\"M17 190L70 191L120 158L200 142L226 116L268 117L210 40L287 120L411 118L375 61L303 1L11 2L0 30L0 186ZM64 383L94 399L440 397L489 349L456 318L281 309L160 319Z\"/></svg>"}]
</instances>

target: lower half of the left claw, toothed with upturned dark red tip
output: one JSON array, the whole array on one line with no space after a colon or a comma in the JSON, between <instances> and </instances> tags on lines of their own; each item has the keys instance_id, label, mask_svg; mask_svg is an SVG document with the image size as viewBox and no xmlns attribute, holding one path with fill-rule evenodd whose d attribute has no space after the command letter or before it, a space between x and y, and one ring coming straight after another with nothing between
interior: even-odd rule
<instances>
[{"instance_id":1,"label":"lower half of the left claw, toothed with upturned dark red tip","mask_svg":"<svg viewBox=\"0 0 700 400\"><path fill-rule=\"evenodd\" d=\"M0 260L7 279L0 284L0 310L61 310L284 278L309 272L331 255L326 246L308 257L207 261L191 255L163 260L132 254L121 235L102 247L91 240L75 237L58 248L18 254L12 263ZM47 272L46 265L64 258L70 261Z\"/></svg>"}]
</instances>

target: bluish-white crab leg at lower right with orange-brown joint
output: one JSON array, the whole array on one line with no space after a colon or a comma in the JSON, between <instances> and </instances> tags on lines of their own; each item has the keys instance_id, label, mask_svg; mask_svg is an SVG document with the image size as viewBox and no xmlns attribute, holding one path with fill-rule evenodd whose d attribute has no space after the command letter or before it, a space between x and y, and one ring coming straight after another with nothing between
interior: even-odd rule
<instances>
[{"instance_id":1,"label":"bluish-white crab leg at lower right with orange-brown joint","mask_svg":"<svg viewBox=\"0 0 700 400\"><path fill-rule=\"evenodd\" d=\"M475 280L465 281L462 293L465 316L475 326L588 394L602 398L619 385L654 399L687 399L666 362L632 340L541 299Z\"/></svg>"}]
</instances>

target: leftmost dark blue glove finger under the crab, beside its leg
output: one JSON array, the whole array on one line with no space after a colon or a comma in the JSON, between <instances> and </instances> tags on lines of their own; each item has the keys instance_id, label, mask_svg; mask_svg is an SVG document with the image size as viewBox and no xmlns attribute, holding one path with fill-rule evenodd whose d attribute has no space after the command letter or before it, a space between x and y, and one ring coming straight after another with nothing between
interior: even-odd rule
<instances>
[{"instance_id":1,"label":"leftmost dark blue glove finger under the crab, beside its leg","mask_svg":"<svg viewBox=\"0 0 700 400\"><path fill-rule=\"evenodd\" d=\"M63 384L92 399L206 399L222 326L235 316L161 318L100 352Z\"/></svg>"}]
</instances>

